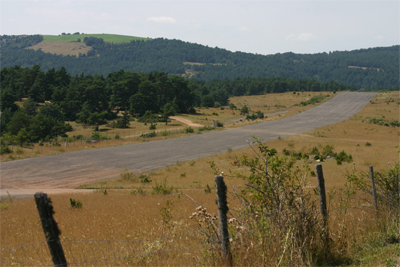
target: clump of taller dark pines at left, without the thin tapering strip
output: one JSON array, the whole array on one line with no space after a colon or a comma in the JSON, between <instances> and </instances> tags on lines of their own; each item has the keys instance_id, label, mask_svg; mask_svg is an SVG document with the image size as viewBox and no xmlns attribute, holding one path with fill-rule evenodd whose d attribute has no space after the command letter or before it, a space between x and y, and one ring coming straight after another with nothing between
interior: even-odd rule
<instances>
[{"instance_id":1,"label":"clump of taller dark pines at left, without the thin tapering strip","mask_svg":"<svg viewBox=\"0 0 400 267\"><path fill-rule=\"evenodd\" d=\"M37 65L1 69L1 135L36 142L65 135L65 121L97 125L116 119L123 111L145 114L194 112L195 85L167 73L123 70L101 75L71 76L64 67L45 72ZM16 104L23 101L22 106Z\"/></svg>"}]
</instances>

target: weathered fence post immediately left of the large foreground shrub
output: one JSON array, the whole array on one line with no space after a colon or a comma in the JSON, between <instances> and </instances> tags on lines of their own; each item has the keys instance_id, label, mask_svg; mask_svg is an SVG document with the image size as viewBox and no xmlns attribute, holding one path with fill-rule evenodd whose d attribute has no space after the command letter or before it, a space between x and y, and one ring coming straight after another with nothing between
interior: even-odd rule
<instances>
[{"instance_id":1,"label":"weathered fence post immediately left of the large foreground shrub","mask_svg":"<svg viewBox=\"0 0 400 267\"><path fill-rule=\"evenodd\" d=\"M219 231L221 236L222 256L225 263L232 266L232 255L230 252L229 232L228 232L228 202L226 200L227 187L224 178L220 175L215 177L215 184L217 185L217 205L218 205L218 219Z\"/></svg>"}]
</instances>

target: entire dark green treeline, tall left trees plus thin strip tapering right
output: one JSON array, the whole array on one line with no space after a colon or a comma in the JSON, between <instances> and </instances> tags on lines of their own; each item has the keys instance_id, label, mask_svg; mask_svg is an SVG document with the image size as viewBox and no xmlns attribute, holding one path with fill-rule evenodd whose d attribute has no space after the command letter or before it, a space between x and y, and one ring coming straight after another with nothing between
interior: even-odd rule
<instances>
[{"instance_id":1,"label":"entire dark green treeline, tall left trees plus thin strip tapering right","mask_svg":"<svg viewBox=\"0 0 400 267\"><path fill-rule=\"evenodd\" d=\"M63 136L65 121L97 125L118 119L127 127L129 114L137 118L195 112L195 106L228 105L230 96L288 91L355 90L336 82L289 78L236 78L188 80L165 72L135 73L120 70L102 75L72 76L61 67L43 71L40 66L3 68L1 77L1 135L23 141ZM23 100L23 101L22 101ZM17 105L17 102L20 103ZM21 105L22 103L22 105Z\"/></svg>"}]
</instances>

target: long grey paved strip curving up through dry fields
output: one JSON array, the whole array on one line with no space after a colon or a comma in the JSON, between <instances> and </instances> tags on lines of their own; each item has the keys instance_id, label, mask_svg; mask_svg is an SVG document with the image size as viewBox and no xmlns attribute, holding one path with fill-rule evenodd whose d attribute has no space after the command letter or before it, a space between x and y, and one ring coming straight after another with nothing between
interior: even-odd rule
<instances>
[{"instance_id":1,"label":"long grey paved strip curving up through dry fields","mask_svg":"<svg viewBox=\"0 0 400 267\"><path fill-rule=\"evenodd\" d=\"M247 146L257 136L265 141L284 138L338 123L360 111L375 93L341 93L305 112L277 121L213 133L37 157L0 164L1 191L68 189L91 181L115 178L125 168L145 172ZM13 190L17 192L18 190Z\"/></svg>"}]
</instances>

